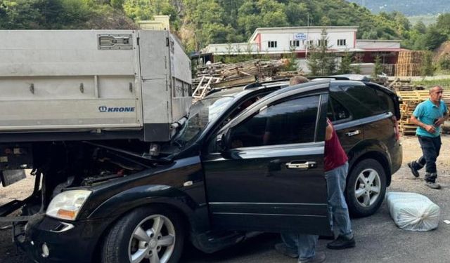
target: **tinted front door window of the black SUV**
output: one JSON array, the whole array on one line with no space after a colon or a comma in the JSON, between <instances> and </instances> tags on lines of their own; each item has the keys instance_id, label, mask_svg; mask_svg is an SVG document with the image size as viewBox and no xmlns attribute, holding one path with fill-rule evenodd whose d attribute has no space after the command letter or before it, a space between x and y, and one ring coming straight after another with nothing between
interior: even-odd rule
<instances>
[{"instance_id":1,"label":"tinted front door window of the black SUV","mask_svg":"<svg viewBox=\"0 0 450 263\"><path fill-rule=\"evenodd\" d=\"M231 148L314 142L319 95L263 109L231 130Z\"/></svg>"}]
</instances>

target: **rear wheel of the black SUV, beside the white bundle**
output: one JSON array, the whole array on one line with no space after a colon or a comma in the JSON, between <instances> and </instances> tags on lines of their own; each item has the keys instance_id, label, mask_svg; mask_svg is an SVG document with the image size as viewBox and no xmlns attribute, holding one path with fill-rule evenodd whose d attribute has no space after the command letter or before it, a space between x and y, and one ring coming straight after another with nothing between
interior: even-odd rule
<instances>
[{"instance_id":1,"label":"rear wheel of the black SUV, beside the white bundle","mask_svg":"<svg viewBox=\"0 0 450 263\"><path fill-rule=\"evenodd\" d=\"M347 178L346 196L352 217L373 215L386 194L386 174L383 166L374 159L356 163Z\"/></svg>"}]
</instances>

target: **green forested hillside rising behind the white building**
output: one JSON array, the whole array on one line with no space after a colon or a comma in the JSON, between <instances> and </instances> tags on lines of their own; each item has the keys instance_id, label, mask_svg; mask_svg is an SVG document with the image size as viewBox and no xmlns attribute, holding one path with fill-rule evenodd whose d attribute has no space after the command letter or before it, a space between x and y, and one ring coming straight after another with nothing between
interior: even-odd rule
<instances>
[{"instance_id":1,"label":"green forested hillside rising behind the white building","mask_svg":"<svg viewBox=\"0 0 450 263\"><path fill-rule=\"evenodd\" d=\"M401 13L375 15L344 0L0 0L0 29L126 29L160 14L189 51L247 41L257 27L358 25L359 39L416 49L436 48L450 30L450 15L413 26Z\"/></svg>"}]
</instances>

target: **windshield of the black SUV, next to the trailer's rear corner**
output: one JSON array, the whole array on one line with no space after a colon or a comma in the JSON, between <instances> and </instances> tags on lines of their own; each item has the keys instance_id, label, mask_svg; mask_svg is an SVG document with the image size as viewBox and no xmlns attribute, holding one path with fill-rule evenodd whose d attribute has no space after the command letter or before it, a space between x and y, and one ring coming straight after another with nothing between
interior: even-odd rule
<instances>
[{"instance_id":1,"label":"windshield of the black SUV, next to the trailer's rear corner","mask_svg":"<svg viewBox=\"0 0 450 263\"><path fill-rule=\"evenodd\" d=\"M188 120L172 144L176 147L186 147L195 141L195 139L206 128L207 124L221 114L226 107L233 101L233 97L210 97L195 102L189 109Z\"/></svg>"}]
</instances>

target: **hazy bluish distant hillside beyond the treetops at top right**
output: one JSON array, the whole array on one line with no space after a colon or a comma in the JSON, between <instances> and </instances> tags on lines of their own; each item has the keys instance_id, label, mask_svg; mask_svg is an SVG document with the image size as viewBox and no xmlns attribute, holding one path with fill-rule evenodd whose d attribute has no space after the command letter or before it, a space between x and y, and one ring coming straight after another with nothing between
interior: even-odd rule
<instances>
[{"instance_id":1,"label":"hazy bluish distant hillside beyond the treetops at top right","mask_svg":"<svg viewBox=\"0 0 450 263\"><path fill-rule=\"evenodd\" d=\"M449 13L449 0L349 0L359 5L366 6L373 13L399 11L410 15L437 15Z\"/></svg>"}]
</instances>

